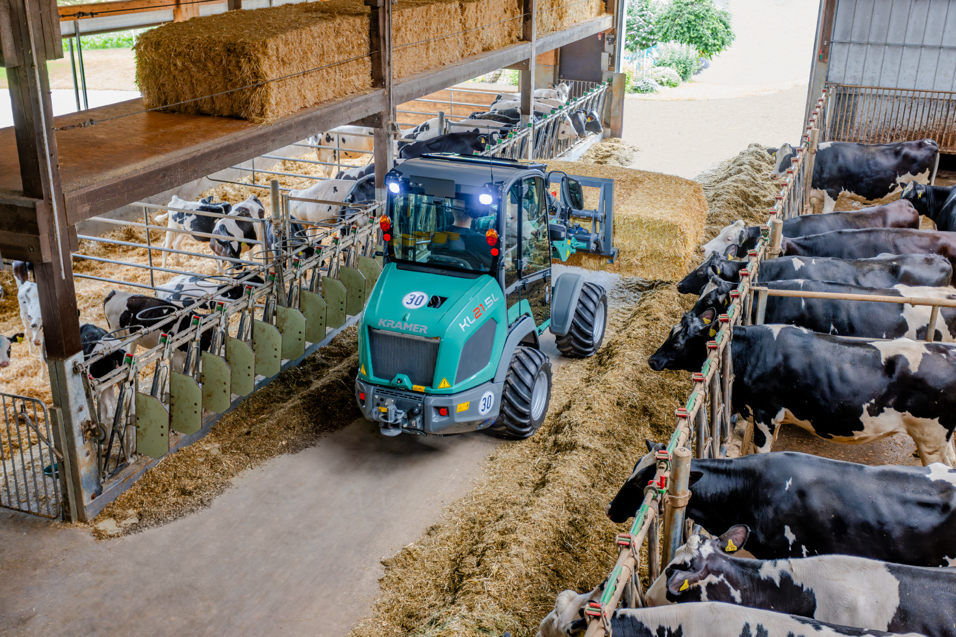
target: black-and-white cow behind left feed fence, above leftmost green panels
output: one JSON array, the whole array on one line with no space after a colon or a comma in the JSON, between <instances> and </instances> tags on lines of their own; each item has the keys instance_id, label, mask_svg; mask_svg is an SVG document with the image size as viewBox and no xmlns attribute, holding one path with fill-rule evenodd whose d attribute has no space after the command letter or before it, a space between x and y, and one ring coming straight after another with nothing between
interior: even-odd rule
<instances>
[{"instance_id":1,"label":"black-and-white cow behind left feed fence, above leftmost green panels","mask_svg":"<svg viewBox=\"0 0 956 637\"><path fill-rule=\"evenodd\" d=\"M182 308L188 308L193 305L192 300L185 300L182 303L163 301L155 296L145 296L144 294L130 294L129 292L118 292L112 290L103 299L103 313L106 315L106 323L109 325L111 333L117 338L125 338L130 333L146 330L161 323L163 319L170 314ZM162 329L154 329L146 332L140 338L133 341L130 347L130 353L136 354L138 347L151 350L160 344L160 332L169 335L175 335L188 329L193 314L186 314L179 321L173 320L163 325ZM206 351L212 342L212 330L206 329L200 340L200 349ZM185 365L185 352L188 350L188 344L184 343L177 350L173 351L173 369L176 372L182 372Z\"/></svg>"}]
</instances>

